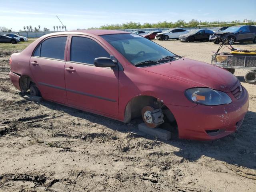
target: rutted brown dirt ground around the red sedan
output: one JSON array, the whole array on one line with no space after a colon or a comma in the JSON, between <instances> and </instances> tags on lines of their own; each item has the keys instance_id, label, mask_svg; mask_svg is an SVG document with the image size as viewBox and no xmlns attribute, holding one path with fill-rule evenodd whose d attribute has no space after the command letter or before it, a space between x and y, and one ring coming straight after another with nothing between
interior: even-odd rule
<instances>
[{"instance_id":1,"label":"rutted brown dirt ground around the red sedan","mask_svg":"<svg viewBox=\"0 0 256 192\"><path fill-rule=\"evenodd\" d=\"M156 42L208 63L218 48L208 42ZM27 44L0 44L0 191L256 191L256 85L244 82L245 71L235 72L250 94L237 132L208 142L162 141L132 134L140 120L125 124L22 98L9 80L8 58Z\"/></svg>"}]
</instances>

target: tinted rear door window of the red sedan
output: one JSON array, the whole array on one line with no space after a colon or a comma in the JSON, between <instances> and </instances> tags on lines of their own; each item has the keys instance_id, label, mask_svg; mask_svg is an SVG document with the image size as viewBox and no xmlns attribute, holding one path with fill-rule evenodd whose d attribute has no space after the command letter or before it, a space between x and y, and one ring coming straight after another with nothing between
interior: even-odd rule
<instances>
[{"instance_id":1,"label":"tinted rear door window of the red sedan","mask_svg":"<svg viewBox=\"0 0 256 192\"><path fill-rule=\"evenodd\" d=\"M46 39L41 45L40 57L64 60L67 37L53 37Z\"/></svg>"}]
</instances>

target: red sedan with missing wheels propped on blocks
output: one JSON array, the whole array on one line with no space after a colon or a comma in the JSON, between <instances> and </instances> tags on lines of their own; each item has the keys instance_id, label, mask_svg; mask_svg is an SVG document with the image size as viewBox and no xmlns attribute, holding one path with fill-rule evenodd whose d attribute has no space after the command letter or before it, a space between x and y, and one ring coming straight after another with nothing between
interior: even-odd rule
<instances>
[{"instance_id":1,"label":"red sedan with missing wheels propped on blocks","mask_svg":"<svg viewBox=\"0 0 256 192\"><path fill-rule=\"evenodd\" d=\"M141 117L150 128L169 122L186 139L235 132L249 105L230 72L122 31L48 34L12 54L10 66L22 92L122 122Z\"/></svg>"}]
</instances>

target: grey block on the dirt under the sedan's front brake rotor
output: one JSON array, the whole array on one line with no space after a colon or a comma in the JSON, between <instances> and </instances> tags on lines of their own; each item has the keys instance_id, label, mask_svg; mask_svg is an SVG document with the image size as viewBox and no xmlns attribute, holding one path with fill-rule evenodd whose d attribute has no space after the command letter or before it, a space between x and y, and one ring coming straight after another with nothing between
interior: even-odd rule
<instances>
[{"instance_id":1,"label":"grey block on the dirt under the sedan's front brake rotor","mask_svg":"<svg viewBox=\"0 0 256 192\"><path fill-rule=\"evenodd\" d=\"M162 140L170 140L171 132L161 128L148 128L145 123L139 124L139 131Z\"/></svg>"}]
</instances>

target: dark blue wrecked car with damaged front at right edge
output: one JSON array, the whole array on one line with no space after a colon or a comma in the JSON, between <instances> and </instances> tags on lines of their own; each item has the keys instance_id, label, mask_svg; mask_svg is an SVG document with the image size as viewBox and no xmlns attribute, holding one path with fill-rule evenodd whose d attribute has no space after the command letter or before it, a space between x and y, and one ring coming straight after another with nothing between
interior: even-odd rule
<instances>
[{"instance_id":1,"label":"dark blue wrecked car with damaged front at right edge","mask_svg":"<svg viewBox=\"0 0 256 192\"><path fill-rule=\"evenodd\" d=\"M235 42L254 42L256 43L256 26L237 25L227 28L222 32L215 32L209 42L219 44L226 39L226 44L234 44Z\"/></svg>"}]
</instances>

